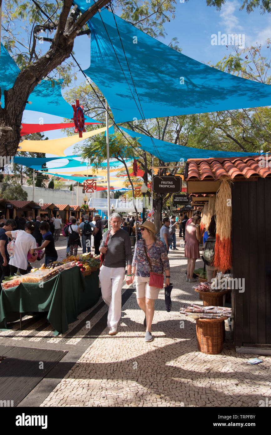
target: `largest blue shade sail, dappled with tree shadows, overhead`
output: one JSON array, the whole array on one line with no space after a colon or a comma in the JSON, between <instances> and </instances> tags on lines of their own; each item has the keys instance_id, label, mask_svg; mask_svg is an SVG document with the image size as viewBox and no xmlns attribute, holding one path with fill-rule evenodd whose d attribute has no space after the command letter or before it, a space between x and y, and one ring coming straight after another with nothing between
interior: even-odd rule
<instances>
[{"instance_id":1,"label":"largest blue shade sail, dappled with tree shadows, overhead","mask_svg":"<svg viewBox=\"0 0 271 435\"><path fill-rule=\"evenodd\" d=\"M89 7L76 3L81 10ZM106 97L116 123L271 104L271 86L197 62L107 9L88 26L91 64L84 72Z\"/></svg>"}]
</instances>

